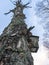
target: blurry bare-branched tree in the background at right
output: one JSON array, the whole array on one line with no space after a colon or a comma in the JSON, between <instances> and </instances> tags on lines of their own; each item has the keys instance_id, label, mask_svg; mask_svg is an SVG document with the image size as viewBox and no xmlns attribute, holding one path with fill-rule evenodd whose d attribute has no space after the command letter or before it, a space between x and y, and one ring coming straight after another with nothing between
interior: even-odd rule
<instances>
[{"instance_id":1,"label":"blurry bare-branched tree in the background at right","mask_svg":"<svg viewBox=\"0 0 49 65\"><path fill-rule=\"evenodd\" d=\"M36 15L41 18L45 30L43 34L44 46L49 48L49 0L42 0L36 4Z\"/></svg>"}]
</instances>

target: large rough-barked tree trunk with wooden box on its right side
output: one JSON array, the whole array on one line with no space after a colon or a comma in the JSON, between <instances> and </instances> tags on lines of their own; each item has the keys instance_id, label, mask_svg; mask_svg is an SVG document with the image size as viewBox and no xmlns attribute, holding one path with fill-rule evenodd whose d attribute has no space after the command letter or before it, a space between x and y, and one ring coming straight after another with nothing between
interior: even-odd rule
<instances>
[{"instance_id":1,"label":"large rough-barked tree trunk with wooden box on its right side","mask_svg":"<svg viewBox=\"0 0 49 65\"><path fill-rule=\"evenodd\" d=\"M23 9L28 8L29 3L23 5L21 0L16 2L11 23L4 29L0 36L0 65L33 65L31 52L37 52L39 46L38 36L33 36L27 28Z\"/></svg>"}]
</instances>

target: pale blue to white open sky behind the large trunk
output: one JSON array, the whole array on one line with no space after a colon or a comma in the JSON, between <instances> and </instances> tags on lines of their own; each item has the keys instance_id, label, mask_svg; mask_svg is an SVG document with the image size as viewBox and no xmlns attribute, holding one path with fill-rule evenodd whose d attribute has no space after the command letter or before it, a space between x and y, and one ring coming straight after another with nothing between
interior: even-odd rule
<instances>
[{"instance_id":1,"label":"pale blue to white open sky behind the large trunk","mask_svg":"<svg viewBox=\"0 0 49 65\"><path fill-rule=\"evenodd\" d=\"M39 24L40 18L35 15L35 4L39 0L22 0L22 2L24 3L28 1L30 1L30 6L32 6L32 8L24 10L24 13L27 17L25 21L28 27L35 26L35 28L32 30L32 33L39 36L39 50L37 53L32 53L32 56L34 57L34 65L49 65L49 50L45 48L42 44L44 29L42 25ZM4 28L10 23L12 18L12 13L6 16L4 15L4 13L8 12L10 9L13 8L14 5L10 2L10 0L0 0L0 34L3 32Z\"/></svg>"}]
</instances>

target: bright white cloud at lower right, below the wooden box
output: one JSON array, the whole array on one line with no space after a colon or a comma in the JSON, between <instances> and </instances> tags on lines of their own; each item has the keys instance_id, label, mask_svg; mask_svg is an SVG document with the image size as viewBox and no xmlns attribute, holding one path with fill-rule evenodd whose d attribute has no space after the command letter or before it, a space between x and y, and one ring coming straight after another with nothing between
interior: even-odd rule
<instances>
[{"instance_id":1,"label":"bright white cloud at lower right, below the wooden box","mask_svg":"<svg viewBox=\"0 0 49 65\"><path fill-rule=\"evenodd\" d=\"M49 64L48 50L43 45L40 45L38 52L33 53L32 56L34 57L34 65Z\"/></svg>"}]
</instances>

